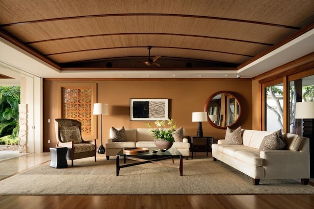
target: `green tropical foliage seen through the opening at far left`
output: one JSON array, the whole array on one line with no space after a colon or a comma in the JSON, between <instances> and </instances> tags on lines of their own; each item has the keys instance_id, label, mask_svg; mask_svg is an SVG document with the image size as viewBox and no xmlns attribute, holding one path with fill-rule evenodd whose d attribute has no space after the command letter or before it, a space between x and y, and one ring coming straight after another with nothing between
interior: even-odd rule
<instances>
[{"instance_id":1,"label":"green tropical foliage seen through the opening at far left","mask_svg":"<svg viewBox=\"0 0 314 209\"><path fill-rule=\"evenodd\" d=\"M18 144L20 86L0 86L0 144Z\"/></svg>"}]
</instances>

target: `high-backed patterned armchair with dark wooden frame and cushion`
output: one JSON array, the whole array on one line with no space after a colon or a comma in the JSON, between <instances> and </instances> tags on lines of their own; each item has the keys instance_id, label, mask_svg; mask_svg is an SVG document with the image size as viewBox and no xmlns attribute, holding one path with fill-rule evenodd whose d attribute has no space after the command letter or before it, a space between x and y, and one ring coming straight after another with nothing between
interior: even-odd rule
<instances>
[{"instance_id":1,"label":"high-backed patterned armchair with dark wooden frame and cushion","mask_svg":"<svg viewBox=\"0 0 314 209\"><path fill-rule=\"evenodd\" d=\"M67 160L95 156L96 139L84 140L81 135L81 122L74 119L57 118L54 120L57 146L67 147Z\"/></svg>"}]
</instances>

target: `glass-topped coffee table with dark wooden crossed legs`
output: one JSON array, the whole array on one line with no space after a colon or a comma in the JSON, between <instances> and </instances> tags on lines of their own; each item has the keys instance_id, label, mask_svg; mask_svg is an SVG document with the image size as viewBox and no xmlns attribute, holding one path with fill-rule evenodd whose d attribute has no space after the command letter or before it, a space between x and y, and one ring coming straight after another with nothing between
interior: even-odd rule
<instances>
[{"instance_id":1,"label":"glass-topped coffee table with dark wooden crossed legs","mask_svg":"<svg viewBox=\"0 0 314 209\"><path fill-rule=\"evenodd\" d=\"M138 150L138 151L136 151ZM157 151L157 152L156 152ZM156 153L154 153L156 152ZM120 164L120 157L123 157L124 164ZM158 161L166 160L172 158L172 164L170 163L161 163ZM179 165L174 164L175 158L180 158ZM127 159L138 161L137 163L127 163ZM170 149L162 152L158 148L124 148L121 149L117 154L117 176L119 176L120 168L130 167L139 164L145 163L155 163L158 165L163 165L167 167L179 168L180 175L183 176L183 156L176 148L171 147Z\"/></svg>"}]
</instances>

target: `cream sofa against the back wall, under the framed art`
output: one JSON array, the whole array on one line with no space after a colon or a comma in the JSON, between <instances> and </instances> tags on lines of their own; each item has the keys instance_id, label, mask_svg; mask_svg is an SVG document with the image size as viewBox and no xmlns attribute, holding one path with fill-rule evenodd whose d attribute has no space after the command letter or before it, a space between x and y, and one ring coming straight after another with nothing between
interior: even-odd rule
<instances>
[{"instance_id":1,"label":"cream sofa against the back wall, under the framed art","mask_svg":"<svg viewBox=\"0 0 314 209\"><path fill-rule=\"evenodd\" d=\"M116 156L122 148L133 148L133 147L156 147L154 143L154 137L149 132L149 128L136 128L136 129L125 129L127 135L127 141L112 142L112 128L109 131L109 139L105 144L105 155L107 160L109 156ZM185 136L185 130L183 129L183 136ZM183 138L183 142L173 142L172 147L175 147L188 159L190 154L190 143L188 139Z\"/></svg>"}]
</instances>

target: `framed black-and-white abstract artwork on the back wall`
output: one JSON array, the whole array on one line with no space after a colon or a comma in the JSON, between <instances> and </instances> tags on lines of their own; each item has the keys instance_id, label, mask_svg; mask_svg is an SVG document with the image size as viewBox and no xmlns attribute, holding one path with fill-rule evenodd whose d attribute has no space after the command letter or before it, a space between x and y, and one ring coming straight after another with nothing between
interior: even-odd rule
<instances>
[{"instance_id":1,"label":"framed black-and-white abstract artwork on the back wall","mask_svg":"<svg viewBox=\"0 0 314 209\"><path fill-rule=\"evenodd\" d=\"M168 99L130 99L130 120L167 120Z\"/></svg>"}]
</instances>

